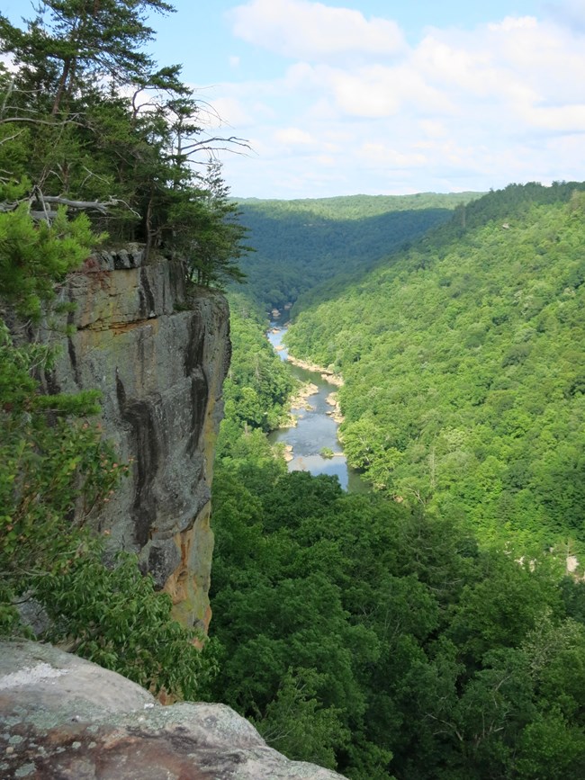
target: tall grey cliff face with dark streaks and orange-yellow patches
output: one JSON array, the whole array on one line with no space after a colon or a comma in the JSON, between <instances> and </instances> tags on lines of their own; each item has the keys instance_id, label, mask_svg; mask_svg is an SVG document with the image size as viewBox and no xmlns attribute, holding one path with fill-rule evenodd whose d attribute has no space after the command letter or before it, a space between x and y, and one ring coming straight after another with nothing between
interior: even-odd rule
<instances>
[{"instance_id":1,"label":"tall grey cliff face with dark streaks and orange-yellow patches","mask_svg":"<svg viewBox=\"0 0 585 780\"><path fill-rule=\"evenodd\" d=\"M76 330L62 339L47 389L101 390L104 435L121 462L132 462L95 528L113 549L139 553L178 619L206 628L227 303L204 290L188 296L182 265L145 264L139 247L91 258L63 296L76 303Z\"/></svg>"}]
</instances>

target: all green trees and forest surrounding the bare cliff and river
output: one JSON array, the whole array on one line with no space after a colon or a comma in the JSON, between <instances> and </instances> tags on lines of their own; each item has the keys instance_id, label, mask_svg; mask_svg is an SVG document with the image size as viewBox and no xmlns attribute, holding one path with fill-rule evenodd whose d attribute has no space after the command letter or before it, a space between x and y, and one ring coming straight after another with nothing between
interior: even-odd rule
<instances>
[{"instance_id":1,"label":"all green trees and forest surrounding the bare cliff and river","mask_svg":"<svg viewBox=\"0 0 585 780\"><path fill-rule=\"evenodd\" d=\"M170 5L41 7L0 16L2 635L30 635L32 595L44 641L229 704L350 780L580 780L585 184L237 202L192 162L245 142L206 138L180 68L144 53ZM43 394L55 355L14 333L131 241L181 258L193 289L248 277L229 291L208 639L84 527L131 464L98 394ZM295 390L266 340L285 302L293 354L344 377L365 495L267 444Z\"/></svg>"}]
</instances>

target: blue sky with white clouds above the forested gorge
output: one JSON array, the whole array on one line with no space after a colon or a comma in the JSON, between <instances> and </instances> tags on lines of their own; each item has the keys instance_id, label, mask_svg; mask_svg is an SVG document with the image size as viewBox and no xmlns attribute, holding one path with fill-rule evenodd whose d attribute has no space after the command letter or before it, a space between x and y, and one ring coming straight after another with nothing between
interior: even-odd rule
<instances>
[{"instance_id":1,"label":"blue sky with white clouds above the forested gorge","mask_svg":"<svg viewBox=\"0 0 585 780\"><path fill-rule=\"evenodd\" d=\"M585 179L585 0L174 5L151 53L249 142L221 156L238 197Z\"/></svg>"}]
</instances>

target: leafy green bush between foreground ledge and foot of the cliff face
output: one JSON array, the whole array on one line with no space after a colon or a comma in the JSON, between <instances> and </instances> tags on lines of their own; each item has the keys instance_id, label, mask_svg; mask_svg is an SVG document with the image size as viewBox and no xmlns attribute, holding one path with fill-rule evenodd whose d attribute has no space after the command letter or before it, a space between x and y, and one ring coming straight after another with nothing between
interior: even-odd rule
<instances>
[{"instance_id":1,"label":"leafy green bush between foreground ledge and foot of the cliff face","mask_svg":"<svg viewBox=\"0 0 585 780\"><path fill-rule=\"evenodd\" d=\"M39 578L34 593L52 621L44 639L155 694L193 700L215 673L211 649L199 650L202 637L173 620L170 596L155 591L135 556L119 553L105 567L92 545L66 571Z\"/></svg>"}]
</instances>

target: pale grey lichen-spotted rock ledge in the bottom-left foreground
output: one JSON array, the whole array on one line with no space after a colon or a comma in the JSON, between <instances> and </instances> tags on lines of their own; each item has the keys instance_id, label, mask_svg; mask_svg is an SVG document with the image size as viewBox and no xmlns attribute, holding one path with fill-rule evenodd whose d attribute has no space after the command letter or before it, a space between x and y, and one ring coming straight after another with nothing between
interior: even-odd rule
<instances>
[{"instance_id":1,"label":"pale grey lichen-spotted rock ledge in the bottom-left foreground","mask_svg":"<svg viewBox=\"0 0 585 780\"><path fill-rule=\"evenodd\" d=\"M163 707L50 645L0 643L0 776L73 780L335 780L270 749L223 704Z\"/></svg>"}]
</instances>

